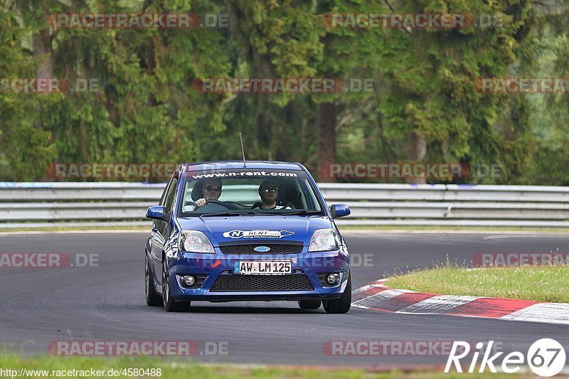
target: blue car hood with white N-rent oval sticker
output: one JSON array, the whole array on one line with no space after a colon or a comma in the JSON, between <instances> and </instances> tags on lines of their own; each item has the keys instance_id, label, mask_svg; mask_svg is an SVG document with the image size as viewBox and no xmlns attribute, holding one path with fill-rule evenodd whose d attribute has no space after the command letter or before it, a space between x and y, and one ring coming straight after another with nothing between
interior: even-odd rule
<instances>
[{"instance_id":1,"label":"blue car hood with white N-rent oval sticker","mask_svg":"<svg viewBox=\"0 0 569 379\"><path fill-rule=\"evenodd\" d=\"M240 215L230 217L178 218L182 230L205 233L214 246L220 242L302 241L308 245L314 230L332 228L326 216Z\"/></svg>"}]
</instances>

